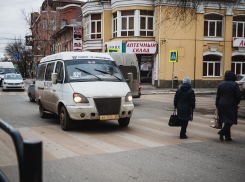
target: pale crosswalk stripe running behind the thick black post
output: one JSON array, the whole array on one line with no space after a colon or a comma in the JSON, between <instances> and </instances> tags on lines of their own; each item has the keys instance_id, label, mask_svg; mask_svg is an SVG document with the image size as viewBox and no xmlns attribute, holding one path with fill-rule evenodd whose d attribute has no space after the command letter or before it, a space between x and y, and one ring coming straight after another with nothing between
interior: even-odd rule
<instances>
[{"instance_id":1,"label":"pale crosswalk stripe running behind the thick black post","mask_svg":"<svg viewBox=\"0 0 245 182\"><path fill-rule=\"evenodd\" d=\"M57 159L75 157L78 154L64 148L63 146L53 142L52 140L38 134L37 132L31 130L30 128L19 128L22 136L28 139L39 139L43 141L43 149L55 156Z\"/></svg>"}]
</instances>

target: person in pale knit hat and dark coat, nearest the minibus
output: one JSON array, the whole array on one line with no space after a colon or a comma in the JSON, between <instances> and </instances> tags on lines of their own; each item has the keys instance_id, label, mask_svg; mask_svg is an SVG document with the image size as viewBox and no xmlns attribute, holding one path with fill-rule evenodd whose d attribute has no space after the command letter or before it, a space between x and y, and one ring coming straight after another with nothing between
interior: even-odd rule
<instances>
[{"instance_id":1,"label":"person in pale knit hat and dark coat, nearest the minibus","mask_svg":"<svg viewBox=\"0 0 245 182\"><path fill-rule=\"evenodd\" d=\"M177 89L174 97L174 107L177 108L177 118L181 122L180 139L188 138L186 128L189 120L193 119L195 102L195 93L191 89L191 79L185 77L183 84Z\"/></svg>"}]
</instances>

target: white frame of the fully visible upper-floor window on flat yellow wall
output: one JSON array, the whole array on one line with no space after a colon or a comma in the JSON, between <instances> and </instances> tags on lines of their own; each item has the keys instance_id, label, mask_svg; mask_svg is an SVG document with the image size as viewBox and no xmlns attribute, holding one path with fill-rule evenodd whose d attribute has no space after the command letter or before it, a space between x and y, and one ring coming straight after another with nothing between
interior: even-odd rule
<instances>
[{"instance_id":1,"label":"white frame of the fully visible upper-floor window on flat yellow wall","mask_svg":"<svg viewBox=\"0 0 245 182\"><path fill-rule=\"evenodd\" d=\"M222 20L208 20L205 19L205 15L218 15L222 17ZM224 15L217 13L217 12L211 12L211 13L207 13L204 15L204 37L205 38L223 38L224 36ZM205 21L208 22L208 32L207 35L205 35ZM210 36L210 22L214 22L215 23L215 27L214 27L214 36ZM217 36L217 22L221 22L221 36Z\"/></svg>"}]
</instances>

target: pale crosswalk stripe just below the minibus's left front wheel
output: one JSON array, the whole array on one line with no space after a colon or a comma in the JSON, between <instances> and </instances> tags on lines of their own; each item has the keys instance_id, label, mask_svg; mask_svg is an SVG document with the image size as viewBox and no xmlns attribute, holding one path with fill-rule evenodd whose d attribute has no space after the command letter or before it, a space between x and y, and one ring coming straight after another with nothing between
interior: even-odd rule
<instances>
[{"instance_id":1,"label":"pale crosswalk stripe just below the minibus's left front wheel","mask_svg":"<svg viewBox=\"0 0 245 182\"><path fill-rule=\"evenodd\" d=\"M50 126L52 128L54 128L55 130L58 130L58 131L62 131L60 129L60 126L58 125L53 125L53 126ZM91 137L91 136L88 136L86 134L83 134L81 132L76 132L76 131L62 131L63 133L69 135L69 136L72 136L84 143L87 143L88 145L91 145L93 147L96 147L100 150L103 150L104 152L107 152L107 153L114 153L114 152L122 152L122 151L125 151L119 147L115 147L109 143L106 143L106 142L103 142L103 141L100 141L94 137Z\"/></svg>"}]
</instances>

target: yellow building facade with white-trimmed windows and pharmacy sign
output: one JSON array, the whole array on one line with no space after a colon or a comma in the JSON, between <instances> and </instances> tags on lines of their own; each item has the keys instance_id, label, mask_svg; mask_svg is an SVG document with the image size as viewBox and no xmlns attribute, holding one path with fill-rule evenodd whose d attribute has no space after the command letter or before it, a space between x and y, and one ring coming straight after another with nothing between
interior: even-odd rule
<instances>
[{"instance_id":1,"label":"yellow building facade with white-trimmed windows and pharmacy sign","mask_svg":"<svg viewBox=\"0 0 245 182\"><path fill-rule=\"evenodd\" d=\"M226 70L245 74L245 6L219 7L183 11L152 0L87 2L83 50L136 54L142 84L177 87L188 76L192 87L217 87Z\"/></svg>"}]
</instances>

